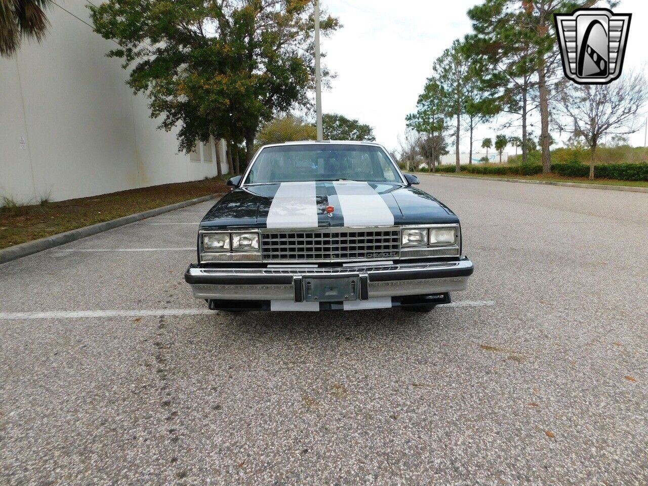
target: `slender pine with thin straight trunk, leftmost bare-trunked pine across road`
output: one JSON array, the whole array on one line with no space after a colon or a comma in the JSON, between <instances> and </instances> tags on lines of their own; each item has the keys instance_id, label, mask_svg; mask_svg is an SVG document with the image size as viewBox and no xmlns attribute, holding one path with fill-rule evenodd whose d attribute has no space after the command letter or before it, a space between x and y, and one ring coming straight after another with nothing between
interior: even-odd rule
<instances>
[{"instance_id":1,"label":"slender pine with thin straight trunk, leftmost bare-trunked pine across road","mask_svg":"<svg viewBox=\"0 0 648 486\"><path fill-rule=\"evenodd\" d=\"M461 172L459 165L459 137L461 136L461 116L465 112L467 96L465 87L469 80L469 57L466 55L461 42L455 40L452 46L443 51L443 54L435 60L433 69L437 76L437 82L441 87L445 114L448 117L456 117L455 130L455 163L456 172Z\"/></svg>"}]
</instances>

